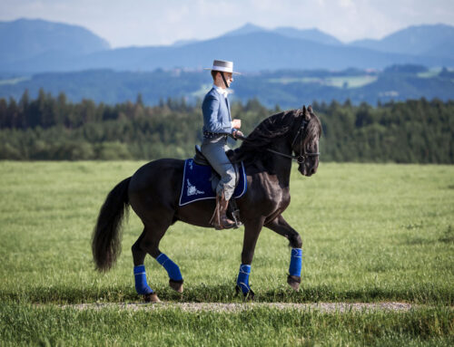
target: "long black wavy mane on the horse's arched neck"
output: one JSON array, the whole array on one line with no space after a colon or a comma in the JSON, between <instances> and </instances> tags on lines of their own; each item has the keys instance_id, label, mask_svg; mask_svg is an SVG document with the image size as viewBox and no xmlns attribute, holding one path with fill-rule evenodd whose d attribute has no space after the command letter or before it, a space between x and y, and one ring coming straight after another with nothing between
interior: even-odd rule
<instances>
[{"instance_id":1,"label":"long black wavy mane on the horse's arched neck","mask_svg":"<svg viewBox=\"0 0 454 347\"><path fill-rule=\"evenodd\" d=\"M311 111L311 108L309 109ZM239 149L235 149L235 155L233 160L243 161L244 163L250 163L257 159L267 159L270 156L270 152L266 149L276 139L280 139L287 136L292 129L294 129L294 121L301 119L307 115L311 115L309 123L304 129L302 134L305 143L309 143L311 146L315 140L318 139L318 135L321 130L321 122L312 112L303 109L283 111L281 113L273 114L268 117L254 129L252 133L242 142ZM298 123L297 127L300 126Z\"/></svg>"}]
</instances>

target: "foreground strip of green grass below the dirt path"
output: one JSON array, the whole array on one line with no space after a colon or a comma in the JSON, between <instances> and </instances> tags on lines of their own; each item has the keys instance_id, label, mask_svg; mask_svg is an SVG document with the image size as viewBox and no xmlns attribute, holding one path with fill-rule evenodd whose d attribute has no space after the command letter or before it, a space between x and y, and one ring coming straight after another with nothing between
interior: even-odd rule
<instances>
[{"instance_id":1,"label":"foreground strip of green grass below the dirt path","mask_svg":"<svg viewBox=\"0 0 454 347\"><path fill-rule=\"evenodd\" d=\"M8 304L5 345L452 345L448 309L408 313L320 313L258 308L239 313L180 309L102 311Z\"/></svg>"}]
</instances>

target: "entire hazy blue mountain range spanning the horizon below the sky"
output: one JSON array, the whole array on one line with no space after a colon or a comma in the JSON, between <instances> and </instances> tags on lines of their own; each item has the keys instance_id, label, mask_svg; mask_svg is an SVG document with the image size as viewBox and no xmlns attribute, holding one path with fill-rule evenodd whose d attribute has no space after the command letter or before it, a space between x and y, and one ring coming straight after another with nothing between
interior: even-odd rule
<instances>
[{"instance_id":1,"label":"entire hazy blue mountain range spanning the horizon below the sky","mask_svg":"<svg viewBox=\"0 0 454 347\"><path fill-rule=\"evenodd\" d=\"M0 53L0 72L3 73L74 72L89 69L199 70L210 66L214 58L232 60L242 72L278 69L342 70L350 67L382 69L392 64L405 63L429 67L454 66L452 45L446 43L451 40L450 33L454 31L454 27L449 25L435 25L438 28L438 41L431 31L434 25L425 25L424 27L429 27L431 34L413 34L418 38L418 44L415 46L408 43L405 47L401 43L400 52L390 52L390 49L396 51L400 41L409 41L409 33L413 33L414 28L390 35L382 43L368 41L344 44L317 29L281 27L268 30L246 24L210 40L183 41L169 46L108 49L108 43L103 39L74 25L39 20L19 20L2 25L0 43L3 43L2 47L8 47ZM415 47L421 53L415 53Z\"/></svg>"}]
</instances>

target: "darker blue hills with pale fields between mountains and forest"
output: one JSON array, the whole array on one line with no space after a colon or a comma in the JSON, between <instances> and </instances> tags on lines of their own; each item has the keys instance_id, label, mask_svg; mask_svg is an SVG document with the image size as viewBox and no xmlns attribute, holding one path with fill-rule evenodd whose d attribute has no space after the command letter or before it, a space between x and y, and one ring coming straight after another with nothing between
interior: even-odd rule
<instances>
[{"instance_id":1,"label":"darker blue hills with pale fields between mountains and forest","mask_svg":"<svg viewBox=\"0 0 454 347\"><path fill-rule=\"evenodd\" d=\"M194 103L208 92L212 84L208 72L183 70L153 72L48 72L19 75L0 80L0 97L19 100L25 90L36 96L40 88L54 95L65 92L69 100L93 99L115 104L134 101L139 93L143 102L156 105L169 97ZM257 98L264 105L282 108L300 107L311 101L332 100L354 104L366 101L405 101L439 98L448 101L454 95L454 73L428 70L419 65L392 65L383 72L349 69L280 70L245 73L232 84L232 101L246 102Z\"/></svg>"}]
</instances>

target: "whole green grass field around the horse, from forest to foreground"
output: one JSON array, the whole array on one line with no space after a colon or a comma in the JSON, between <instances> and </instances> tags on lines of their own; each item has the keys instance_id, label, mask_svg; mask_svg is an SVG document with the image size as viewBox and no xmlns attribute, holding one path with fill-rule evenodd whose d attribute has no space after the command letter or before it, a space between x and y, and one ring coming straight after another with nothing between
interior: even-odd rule
<instances>
[{"instance_id":1,"label":"whole green grass field around the horse, from forest to foreground","mask_svg":"<svg viewBox=\"0 0 454 347\"><path fill-rule=\"evenodd\" d=\"M106 194L143 163L0 162L2 345L301 345L454 342L454 167L326 164L296 169L284 213L303 240L301 291L286 284L287 242L263 229L252 263L258 302L418 304L406 313L321 313L257 308L239 313L76 310L60 304L133 302L131 213L123 253L94 272L90 238ZM151 257L148 282L167 302L241 303L234 296L242 229L175 224L161 249L180 265L183 295Z\"/></svg>"}]
</instances>

